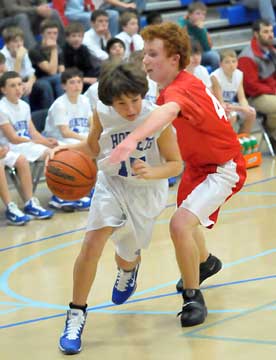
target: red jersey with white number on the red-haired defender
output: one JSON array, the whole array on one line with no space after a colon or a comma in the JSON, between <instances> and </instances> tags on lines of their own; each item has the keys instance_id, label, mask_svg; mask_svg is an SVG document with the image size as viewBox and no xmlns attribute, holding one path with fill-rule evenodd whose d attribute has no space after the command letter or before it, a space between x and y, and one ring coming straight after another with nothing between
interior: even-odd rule
<instances>
[{"instance_id":1,"label":"red jersey with white number on the red-haired defender","mask_svg":"<svg viewBox=\"0 0 276 360\"><path fill-rule=\"evenodd\" d=\"M181 108L173 125L182 158L191 166L223 164L240 152L223 107L196 77L181 71L160 92L157 104L168 102L176 102Z\"/></svg>"}]
</instances>

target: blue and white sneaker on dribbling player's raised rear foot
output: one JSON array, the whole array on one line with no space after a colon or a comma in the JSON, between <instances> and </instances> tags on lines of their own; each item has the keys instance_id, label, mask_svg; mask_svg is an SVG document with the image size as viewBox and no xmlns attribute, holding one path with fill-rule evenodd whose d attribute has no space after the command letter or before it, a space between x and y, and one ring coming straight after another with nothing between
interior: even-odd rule
<instances>
[{"instance_id":1,"label":"blue and white sneaker on dribbling player's raised rear foot","mask_svg":"<svg viewBox=\"0 0 276 360\"><path fill-rule=\"evenodd\" d=\"M131 271L119 269L112 291L112 302L114 302L114 304L123 304L134 293L137 287L136 279L138 270L139 264Z\"/></svg>"}]
</instances>

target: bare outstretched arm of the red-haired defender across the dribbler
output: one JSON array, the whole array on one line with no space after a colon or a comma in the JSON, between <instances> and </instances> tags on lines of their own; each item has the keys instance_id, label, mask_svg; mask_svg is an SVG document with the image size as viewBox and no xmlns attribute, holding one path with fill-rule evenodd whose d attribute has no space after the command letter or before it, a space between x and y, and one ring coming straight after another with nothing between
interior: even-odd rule
<instances>
[{"instance_id":1,"label":"bare outstretched arm of the red-haired defender across the dribbler","mask_svg":"<svg viewBox=\"0 0 276 360\"><path fill-rule=\"evenodd\" d=\"M155 109L125 140L111 152L110 163L116 164L126 160L136 149L137 143L171 123L178 115L180 106L169 102Z\"/></svg>"}]
</instances>

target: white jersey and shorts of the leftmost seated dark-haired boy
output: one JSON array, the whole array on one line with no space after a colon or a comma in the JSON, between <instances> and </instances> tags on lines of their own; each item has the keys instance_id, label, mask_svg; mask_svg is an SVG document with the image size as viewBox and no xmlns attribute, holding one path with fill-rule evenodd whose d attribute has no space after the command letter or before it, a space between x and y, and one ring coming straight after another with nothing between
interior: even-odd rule
<instances>
[{"instance_id":1,"label":"white jersey and shorts of the leftmost seated dark-haired boy","mask_svg":"<svg viewBox=\"0 0 276 360\"><path fill-rule=\"evenodd\" d=\"M0 125L11 124L18 136L31 139L29 133L29 124L31 120L30 106L23 100L18 100L17 104L11 103L6 97L0 100ZM8 145L10 150L24 155L28 161L34 162L38 160L48 149L47 146L26 142L21 144L12 144L5 137L0 128L0 144ZM8 166L14 166L10 162Z\"/></svg>"}]
</instances>

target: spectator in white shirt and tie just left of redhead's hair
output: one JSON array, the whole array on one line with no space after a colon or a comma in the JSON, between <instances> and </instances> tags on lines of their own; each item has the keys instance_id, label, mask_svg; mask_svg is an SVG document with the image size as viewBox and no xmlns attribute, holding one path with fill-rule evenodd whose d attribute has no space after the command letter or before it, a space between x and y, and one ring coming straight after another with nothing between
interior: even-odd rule
<instances>
[{"instance_id":1,"label":"spectator in white shirt and tie just left of redhead's hair","mask_svg":"<svg viewBox=\"0 0 276 360\"><path fill-rule=\"evenodd\" d=\"M133 51L144 48L144 40L138 34L139 24L137 15L132 12L124 12L120 16L120 24L123 29L116 37L125 43L125 57L128 58Z\"/></svg>"}]
</instances>

